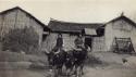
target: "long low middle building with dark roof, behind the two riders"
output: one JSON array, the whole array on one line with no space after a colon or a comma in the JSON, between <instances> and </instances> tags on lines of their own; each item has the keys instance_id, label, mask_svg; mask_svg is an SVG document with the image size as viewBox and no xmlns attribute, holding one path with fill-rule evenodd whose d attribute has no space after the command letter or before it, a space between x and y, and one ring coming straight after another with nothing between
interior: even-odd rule
<instances>
[{"instance_id":1,"label":"long low middle building with dark roof, behind the two riders","mask_svg":"<svg viewBox=\"0 0 136 77\"><path fill-rule=\"evenodd\" d=\"M55 46L58 34L62 34L64 49L70 50L74 47L74 40L77 35L83 34L85 43L92 51L103 51L104 28L101 27L102 25L101 23L72 23L51 18L48 24L51 31L44 41L44 48L50 51Z\"/></svg>"}]
</instances>

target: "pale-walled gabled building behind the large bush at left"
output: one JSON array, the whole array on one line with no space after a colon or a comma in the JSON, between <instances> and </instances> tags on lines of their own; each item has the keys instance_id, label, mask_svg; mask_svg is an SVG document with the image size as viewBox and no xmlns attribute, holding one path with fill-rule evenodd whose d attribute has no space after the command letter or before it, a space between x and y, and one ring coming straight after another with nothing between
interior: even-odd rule
<instances>
[{"instance_id":1,"label":"pale-walled gabled building behind the large bush at left","mask_svg":"<svg viewBox=\"0 0 136 77\"><path fill-rule=\"evenodd\" d=\"M4 34L10 29L32 27L39 36L39 46L42 42L42 34L49 30L49 28L34 17L23 9L15 7L0 13L0 37L4 37Z\"/></svg>"}]
</instances>

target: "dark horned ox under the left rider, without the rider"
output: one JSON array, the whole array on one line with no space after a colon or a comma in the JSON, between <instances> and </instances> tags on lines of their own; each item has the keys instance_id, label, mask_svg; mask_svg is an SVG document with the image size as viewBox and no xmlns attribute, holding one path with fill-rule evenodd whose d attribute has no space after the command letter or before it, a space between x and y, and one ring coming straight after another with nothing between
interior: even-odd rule
<instances>
[{"instance_id":1,"label":"dark horned ox under the left rider, without the rider","mask_svg":"<svg viewBox=\"0 0 136 77\"><path fill-rule=\"evenodd\" d=\"M62 67L66 62L66 52L63 49L52 50L51 52L47 53L49 66L57 69L57 74L62 73Z\"/></svg>"}]
</instances>

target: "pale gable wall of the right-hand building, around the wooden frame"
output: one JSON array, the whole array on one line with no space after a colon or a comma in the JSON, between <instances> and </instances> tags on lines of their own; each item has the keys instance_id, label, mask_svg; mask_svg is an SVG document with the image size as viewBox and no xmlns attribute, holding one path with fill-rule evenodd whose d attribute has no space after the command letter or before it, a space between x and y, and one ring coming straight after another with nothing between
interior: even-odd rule
<instances>
[{"instance_id":1,"label":"pale gable wall of the right-hand building, around the wooden frame","mask_svg":"<svg viewBox=\"0 0 136 77\"><path fill-rule=\"evenodd\" d=\"M121 30L119 27L123 27L127 30ZM132 42L136 49L136 27L131 25L129 23L120 20L113 23L109 23L106 26L106 47L107 51L110 50L114 37L116 38L131 38Z\"/></svg>"}]
</instances>

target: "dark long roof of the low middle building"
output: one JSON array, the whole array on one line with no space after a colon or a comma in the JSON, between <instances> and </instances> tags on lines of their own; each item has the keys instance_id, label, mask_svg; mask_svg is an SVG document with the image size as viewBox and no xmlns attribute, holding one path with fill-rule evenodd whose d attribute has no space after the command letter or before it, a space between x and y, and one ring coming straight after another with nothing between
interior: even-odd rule
<instances>
[{"instance_id":1,"label":"dark long roof of the low middle building","mask_svg":"<svg viewBox=\"0 0 136 77\"><path fill-rule=\"evenodd\" d=\"M71 22L63 22L51 20L48 24L48 27L52 31L64 31L64 33L81 33L85 28L97 29L98 27L102 26L101 23L71 23Z\"/></svg>"}]
</instances>

